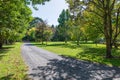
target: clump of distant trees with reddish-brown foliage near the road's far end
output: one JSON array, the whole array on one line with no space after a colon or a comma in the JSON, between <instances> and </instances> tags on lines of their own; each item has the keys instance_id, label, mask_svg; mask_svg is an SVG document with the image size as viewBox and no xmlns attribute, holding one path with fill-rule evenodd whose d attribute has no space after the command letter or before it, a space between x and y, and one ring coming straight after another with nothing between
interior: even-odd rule
<instances>
[{"instance_id":1,"label":"clump of distant trees with reddish-brown foliage near the road's far end","mask_svg":"<svg viewBox=\"0 0 120 80\"><path fill-rule=\"evenodd\" d=\"M41 18L35 17L28 27L28 31L24 40L29 41L49 41L53 35L53 27L47 25L46 21Z\"/></svg>"}]
</instances>

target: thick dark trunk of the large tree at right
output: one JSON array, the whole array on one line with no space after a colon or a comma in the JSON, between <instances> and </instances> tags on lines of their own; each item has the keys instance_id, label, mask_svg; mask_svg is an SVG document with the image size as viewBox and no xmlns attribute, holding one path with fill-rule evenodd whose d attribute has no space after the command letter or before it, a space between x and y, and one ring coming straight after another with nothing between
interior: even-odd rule
<instances>
[{"instance_id":1,"label":"thick dark trunk of the large tree at right","mask_svg":"<svg viewBox=\"0 0 120 80\"><path fill-rule=\"evenodd\" d=\"M104 8L104 35L106 38L106 58L112 58L112 25L111 25L111 11L109 8L109 0Z\"/></svg>"}]
</instances>

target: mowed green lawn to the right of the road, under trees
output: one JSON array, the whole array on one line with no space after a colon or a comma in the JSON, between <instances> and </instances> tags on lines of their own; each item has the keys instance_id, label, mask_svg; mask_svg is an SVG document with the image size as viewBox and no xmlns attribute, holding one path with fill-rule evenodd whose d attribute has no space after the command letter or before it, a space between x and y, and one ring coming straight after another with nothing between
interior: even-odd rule
<instances>
[{"instance_id":1,"label":"mowed green lawn to the right of the road, under trees","mask_svg":"<svg viewBox=\"0 0 120 80\"><path fill-rule=\"evenodd\" d=\"M105 44L98 44L97 46L93 43L81 43L80 46L77 46L75 42L68 42L67 44L64 42L48 42L47 46L41 45L39 42L33 42L33 44L59 55L120 67L120 49L112 50L112 54L116 58L106 59Z\"/></svg>"}]
</instances>

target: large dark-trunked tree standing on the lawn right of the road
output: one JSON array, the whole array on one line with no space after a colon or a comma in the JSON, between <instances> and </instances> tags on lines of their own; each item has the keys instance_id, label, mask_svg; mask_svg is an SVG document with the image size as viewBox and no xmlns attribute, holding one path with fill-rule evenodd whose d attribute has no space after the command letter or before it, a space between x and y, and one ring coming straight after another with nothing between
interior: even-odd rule
<instances>
[{"instance_id":1,"label":"large dark-trunked tree standing on the lawn right of the road","mask_svg":"<svg viewBox=\"0 0 120 80\"><path fill-rule=\"evenodd\" d=\"M74 0L66 0L74 3ZM82 6L83 10L98 16L103 24L103 32L106 40L106 58L112 58L111 50L120 34L119 16L120 2L119 0L81 0L77 7ZM114 17L113 17L114 16ZM115 25L112 21L115 20Z\"/></svg>"}]
</instances>

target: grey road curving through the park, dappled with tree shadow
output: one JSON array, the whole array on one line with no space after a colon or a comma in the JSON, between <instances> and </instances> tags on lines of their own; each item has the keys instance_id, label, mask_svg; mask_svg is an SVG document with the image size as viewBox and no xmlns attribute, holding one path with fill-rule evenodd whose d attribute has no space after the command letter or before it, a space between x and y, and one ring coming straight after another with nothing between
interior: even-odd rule
<instances>
[{"instance_id":1,"label":"grey road curving through the park, dappled with tree shadow","mask_svg":"<svg viewBox=\"0 0 120 80\"><path fill-rule=\"evenodd\" d=\"M21 47L32 80L120 80L120 68L58 56L30 43Z\"/></svg>"}]
</instances>

